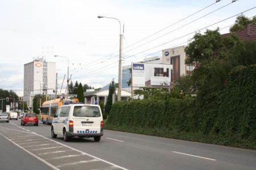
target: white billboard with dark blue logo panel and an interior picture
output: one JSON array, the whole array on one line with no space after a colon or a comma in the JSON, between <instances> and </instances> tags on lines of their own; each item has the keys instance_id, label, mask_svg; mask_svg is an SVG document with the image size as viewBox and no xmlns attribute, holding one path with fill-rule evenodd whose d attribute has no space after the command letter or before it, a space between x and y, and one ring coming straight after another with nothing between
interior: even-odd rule
<instances>
[{"instance_id":1,"label":"white billboard with dark blue logo panel and an interior picture","mask_svg":"<svg viewBox=\"0 0 256 170\"><path fill-rule=\"evenodd\" d=\"M133 87L171 88L172 65L132 63Z\"/></svg>"}]
</instances>

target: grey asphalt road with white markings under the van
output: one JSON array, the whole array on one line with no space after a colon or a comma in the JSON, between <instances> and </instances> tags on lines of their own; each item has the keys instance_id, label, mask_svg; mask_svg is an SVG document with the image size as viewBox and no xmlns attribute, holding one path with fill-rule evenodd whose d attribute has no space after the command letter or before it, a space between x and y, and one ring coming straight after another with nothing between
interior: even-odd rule
<instances>
[{"instance_id":1,"label":"grey asphalt road with white markings under the van","mask_svg":"<svg viewBox=\"0 0 256 170\"><path fill-rule=\"evenodd\" d=\"M49 125L20 126L19 120L0 123L0 142L6 151L0 169L256 169L252 150L109 130L100 142L64 142L51 138ZM19 168L6 161L11 157Z\"/></svg>"}]
</instances>

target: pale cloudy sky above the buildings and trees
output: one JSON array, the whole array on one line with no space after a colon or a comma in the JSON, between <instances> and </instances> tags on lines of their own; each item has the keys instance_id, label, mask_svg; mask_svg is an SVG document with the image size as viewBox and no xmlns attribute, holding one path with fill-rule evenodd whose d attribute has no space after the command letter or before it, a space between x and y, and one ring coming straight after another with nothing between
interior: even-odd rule
<instances>
[{"instance_id":1,"label":"pale cloudy sky above the buildings and trees","mask_svg":"<svg viewBox=\"0 0 256 170\"><path fill-rule=\"evenodd\" d=\"M112 78L117 81L119 23L114 19L98 19L98 15L118 18L124 24L122 65L129 65L145 57L161 56L162 49L187 45L193 37L189 33L204 27L210 30L223 28L220 32L227 33L227 26L233 24L236 17L210 25L255 7L255 0L239 0L230 5L227 4L232 0L214 2L1 0L0 88L13 89L22 96L23 65L38 56L56 62L60 87L67 73L67 60L54 55L69 58L72 81L95 88L109 84ZM200 13L147 38L212 3L214 5ZM225 7L217 10L222 6ZM214 10L217 11L209 14ZM250 18L256 14L256 9L243 14ZM142 40L144 38L147 39Z\"/></svg>"}]
</instances>

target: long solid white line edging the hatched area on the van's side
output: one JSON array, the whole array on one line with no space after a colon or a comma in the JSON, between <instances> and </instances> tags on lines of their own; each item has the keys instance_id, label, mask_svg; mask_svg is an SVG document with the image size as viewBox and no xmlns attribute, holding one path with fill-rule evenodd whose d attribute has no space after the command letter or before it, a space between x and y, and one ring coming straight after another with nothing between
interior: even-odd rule
<instances>
[{"instance_id":1,"label":"long solid white line edging the hatched area on the van's side","mask_svg":"<svg viewBox=\"0 0 256 170\"><path fill-rule=\"evenodd\" d=\"M3 127L3 128L7 128L7 127ZM15 130L15 131L20 131L20 130L16 130L16 129L12 129L12 128L7 128L7 129L11 129L11 130ZM62 144L62 143L57 142L57 141L55 141L55 140L49 139L49 138L47 138L46 136L36 134L36 132L32 132L32 131L31 131L31 132L21 131L21 132L25 132L25 133L28 133L28 134L35 134L35 135L41 136L41 137L44 138L44 139L51 140L52 142L55 142L55 143L57 143L57 144L60 144L61 146L67 147L67 148L69 148L69 149L71 149L71 150L73 150L73 151L77 151L77 152L80 152L81 154L85 154L85 155L88 155L88 156L93 157L93 158L95 158L95 159L101 160L101 161L103 161L103 162L105 162L105 163L107 163L107 164L113 165L114 167L117 167L117 168L119 168L119 169L128 170L128 169L123 168L123 167L121 167L121 166L119 166L119 165L117 165L117 164L114 164L114 163L111 163L111 162L106 161L106 160L104 160L104 159L101 159L100 157L93 156L93 155L90 155L90 154L88 154L88 153L86 153L86 152L82 152L82 151L77 150L77 149L75 149L75 148L69 147L69 146L67 146L67 145L65 145L65 144ZM41 139L41 140L43 140L43 139Z\"/></svg>"}]
</instances>

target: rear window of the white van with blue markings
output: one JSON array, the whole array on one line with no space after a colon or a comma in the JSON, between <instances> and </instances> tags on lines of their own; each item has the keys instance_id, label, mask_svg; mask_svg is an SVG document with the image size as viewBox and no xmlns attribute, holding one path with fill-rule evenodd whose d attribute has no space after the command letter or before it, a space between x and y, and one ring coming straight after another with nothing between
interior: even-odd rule
<instances>
[{"instance_id":1,"label":"rear window of the white van with blue markings","mask_svg":"<svg viewBox=\"0 0 256 170\"><path fill-rule=\"evenodd\" d=\"M100 117L100 109L95 106L75 106L74 117Z\"/></svg>"}]
</instances>

